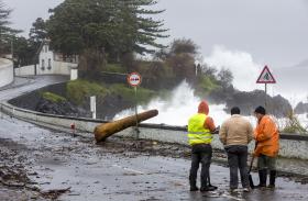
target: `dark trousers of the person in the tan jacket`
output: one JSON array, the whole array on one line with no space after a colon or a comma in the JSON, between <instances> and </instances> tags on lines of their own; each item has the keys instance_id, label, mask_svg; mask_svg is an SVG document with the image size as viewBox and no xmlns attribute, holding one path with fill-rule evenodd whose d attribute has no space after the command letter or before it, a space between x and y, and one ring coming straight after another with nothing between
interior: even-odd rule
<instances>
[{"instance_id":1,"label":"dark trousers of the person in the tan jacket","mask_svg":"<svg viewBox=\"0 0 308 201\"><path fill-rule=\"evenodd\" d=\"M230 167L230 189L237 189L239 186L239 169L242 187L249 188L248 146L230 145L226 147L226 150L228 154L228 164Z\"/></svg>"}]
</instances>

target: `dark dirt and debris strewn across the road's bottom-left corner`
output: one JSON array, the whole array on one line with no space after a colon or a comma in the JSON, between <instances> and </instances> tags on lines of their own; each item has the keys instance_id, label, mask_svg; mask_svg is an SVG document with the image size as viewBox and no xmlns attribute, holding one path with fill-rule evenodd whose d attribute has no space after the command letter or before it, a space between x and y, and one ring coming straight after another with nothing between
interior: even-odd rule
<instances>
[{"instance_id":1,"label":"dark dirt and debris strewn across the road's bottom-left corner","mask_svg":"<svg viewBox=\"0 0 308 201\"><path fill-rule=\"evenodd\" d=\"M37 183L29 178L36 175L25 167L31 163L23 153L30 152L24 145L0 138L0 200L56 200L69 191L69 189L42 191Z\"/></svg>"}]
</instances>

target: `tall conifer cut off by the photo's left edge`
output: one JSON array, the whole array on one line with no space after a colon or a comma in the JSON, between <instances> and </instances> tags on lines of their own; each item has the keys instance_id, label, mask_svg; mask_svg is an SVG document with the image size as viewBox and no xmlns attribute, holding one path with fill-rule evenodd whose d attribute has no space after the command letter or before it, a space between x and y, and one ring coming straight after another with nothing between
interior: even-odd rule
<instances>
[{"instance_id":1,"label":"tall conifer cut off by the photo's left edge","mask_svg":"<svg viewBox=\"0 0 308 201\"><path fill-rule=\"evenodd\" d=\"M0 0L0 54L10 53L10 44L20 31L10 27L9 16L12 10L7 9Z\"/></svg>"}]
</instances>

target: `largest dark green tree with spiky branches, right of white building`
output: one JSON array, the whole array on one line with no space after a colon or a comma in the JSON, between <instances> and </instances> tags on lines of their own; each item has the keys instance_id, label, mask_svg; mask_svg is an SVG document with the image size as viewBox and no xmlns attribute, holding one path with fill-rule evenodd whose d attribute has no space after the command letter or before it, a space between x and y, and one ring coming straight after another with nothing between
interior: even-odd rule
<instances>
[{"instance_id":1,"label":"largest dark green tree with spiky branches, right of white building","mask_svg":"<svg viewBox=\"0 0 308 201\"><path fill-rule=\"evenodd\" d=\"M153 52L163 47L156 43L162 21L148 15L163 11L146 10L153 0L65 0L47 21L52 47L65 55L99 52L111 62L131 53Z\"/></svg>"}]
</instances>

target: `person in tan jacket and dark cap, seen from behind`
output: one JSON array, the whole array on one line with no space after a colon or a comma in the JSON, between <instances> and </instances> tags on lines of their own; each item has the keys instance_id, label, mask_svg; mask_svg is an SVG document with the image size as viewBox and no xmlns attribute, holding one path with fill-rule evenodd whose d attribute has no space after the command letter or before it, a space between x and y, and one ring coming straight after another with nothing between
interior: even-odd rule
<instances>
[{"instance_id":1,"label":"person in tan jacket and dark cap, seen from behind","mask_svg":"<svg viewBox=\"0 0 308 201\"><path fill-rule=\"evenodd\" d=\"M248 144L253 138L251 123L240 115L238 107L231 109L231 118L226 120L219 131L220 142L224 145L230 167L230 191L238 189L240 169L241 182L244 191L250 191L248 174Z\"/></svg>"}]
</instances>

